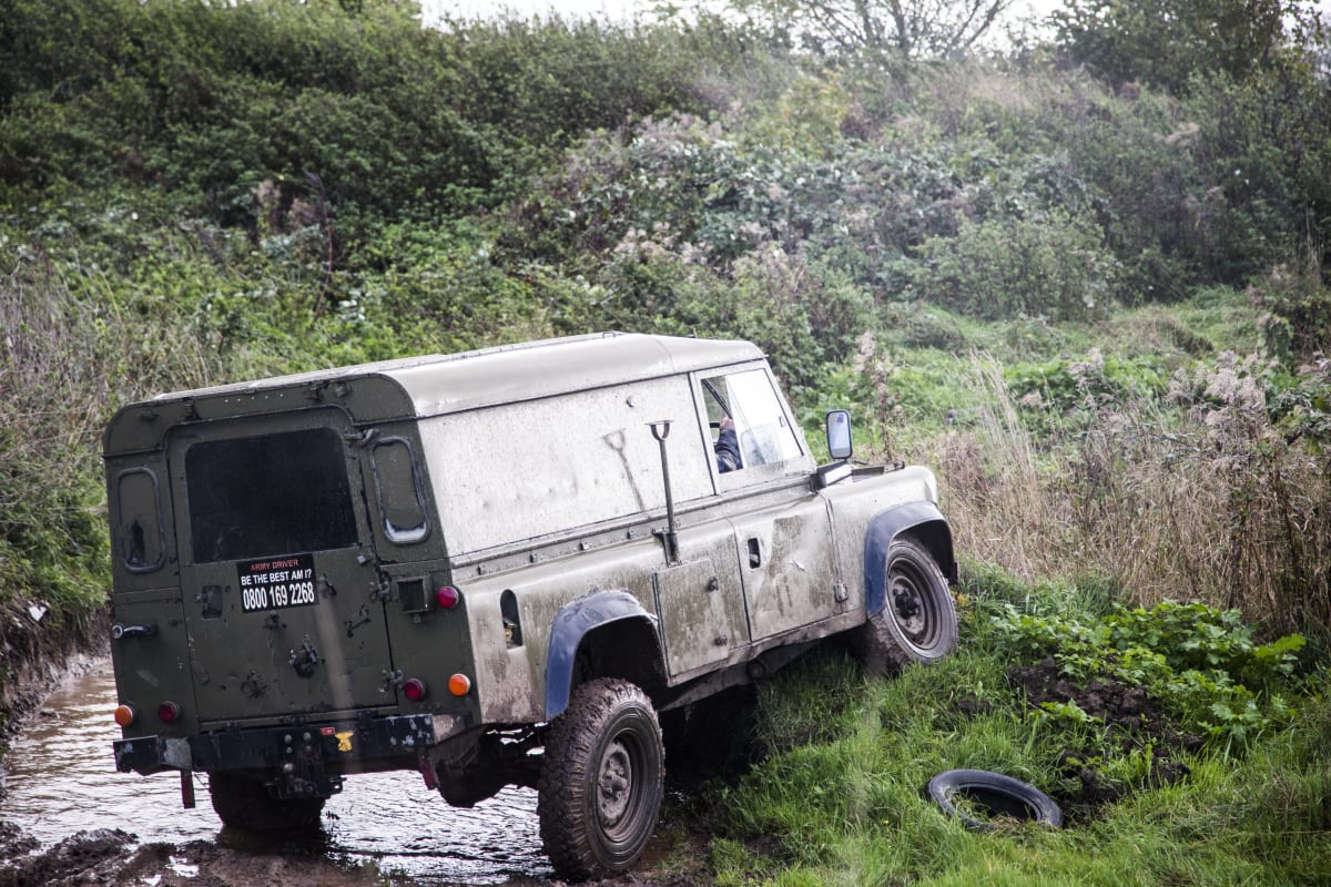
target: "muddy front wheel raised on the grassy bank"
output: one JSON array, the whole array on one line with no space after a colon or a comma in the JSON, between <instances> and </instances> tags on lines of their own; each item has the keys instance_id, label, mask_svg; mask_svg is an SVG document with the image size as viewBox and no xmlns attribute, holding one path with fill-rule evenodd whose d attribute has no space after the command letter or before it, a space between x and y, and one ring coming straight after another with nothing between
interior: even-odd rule
<instances>
[{"instance_id":1,"label":"muddy front wheel raised on the grassy bank","mask_svg":"<svg viewBox=\"0 0 1331 887\"><path fill-rule=\"evenodd\" d=\"M874 677L897 674L914 662L932 665L957 649L957 608L933 557L913 540L898 539L885 560L882 609L852 629L851 638L865 672ZM918 628L898 610L898 594L918 600Z\"/></svg>"}]
</instances>

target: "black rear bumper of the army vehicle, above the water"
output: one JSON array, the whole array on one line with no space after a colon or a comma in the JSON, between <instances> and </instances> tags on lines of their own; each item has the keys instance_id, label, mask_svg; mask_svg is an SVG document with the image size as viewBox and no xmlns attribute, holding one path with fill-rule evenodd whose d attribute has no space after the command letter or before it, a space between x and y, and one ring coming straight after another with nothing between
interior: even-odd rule
<instances>
[{"instance_id":1,"label":"black rear bumper of the army vehicle, above the water","mask_svg":"<svg viewBox=\"0 0 1331 887\"><path fill-rule=\"evenodd\" d=\"M286 765L303 770L311 763L338 773L367 763L391 763L394 759L405 767L414 767L434 742L431 715L401 714L302 726L244 729L232 725L226 730L181 739L120 739L113 749L116 770L122 773L281 771Z\"/></svg>"}]
</instances>

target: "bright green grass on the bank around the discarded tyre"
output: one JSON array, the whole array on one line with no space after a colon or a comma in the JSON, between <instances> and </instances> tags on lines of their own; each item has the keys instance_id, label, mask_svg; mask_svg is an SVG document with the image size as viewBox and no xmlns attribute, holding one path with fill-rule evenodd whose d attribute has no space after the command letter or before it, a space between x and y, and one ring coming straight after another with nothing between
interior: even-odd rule
<instances>
[{"instance_id":1,"label":"bright green grass on the bank around the discarded tyre","mask_svg":"<svg viewBox=\"0 0 1331 887\"><path fill-rule=\"evenodd\" d=\"M1106 605L1094 582L969 588L1083 617ZM1191 774L1166 787L1143 787L1149 754L1106 742L1101 773L1133 790L1063 830L1002 823L976 834L945 817L924 794L936 773L996 770L1054 794L1067 779L1061 753L1103 739L1032 717L1005 677L1010 652L984 626L989 601L964 612L961 650L932 669L866 681L832 654L761 688L765 757L704 799L717 810L716 883L1306 884L1331 872L1331 706L1307 692L1291 726L1243 757L1186 754ZM984 713L965 713L961 699Z\"/></svg>"}]
</instances>

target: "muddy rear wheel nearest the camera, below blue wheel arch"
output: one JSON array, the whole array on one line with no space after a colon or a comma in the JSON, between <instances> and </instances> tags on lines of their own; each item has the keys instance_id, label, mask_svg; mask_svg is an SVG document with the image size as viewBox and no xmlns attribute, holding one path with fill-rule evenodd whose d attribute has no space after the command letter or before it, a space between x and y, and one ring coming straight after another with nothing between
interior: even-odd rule
<instances>
[{"instance_id":1,"label":"muddy rear wheel nearest the camera, below blue wheel arch","mask_svg":"<svg viewBox=\"0 0 1331 887\"><path fill-rule=\"evenodd\" d=\"M638 862L656 830L664 762L656 711L642 689L596 678L574 690L550 725L538 785L540 840L559 878L607 878ZM627 783L610 794L607 777Z\"/></svg>"}]
</instances>

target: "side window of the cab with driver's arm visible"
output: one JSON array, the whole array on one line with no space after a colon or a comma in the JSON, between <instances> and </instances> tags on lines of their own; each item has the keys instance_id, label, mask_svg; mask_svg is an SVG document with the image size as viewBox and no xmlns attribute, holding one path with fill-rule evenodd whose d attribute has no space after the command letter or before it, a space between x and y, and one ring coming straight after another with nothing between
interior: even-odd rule
<instances>
[{"instance_id":1,"label":"side window of the cab with driver's arm visible","mask_svg":"<svg viewBox=\"0 0 1331 887\"><path fill-rule=\"evenodd\" d=\"M772 380L763 370L704 378L703 403L721 473L801 455Z\"/></svg>"}]
</instances>

